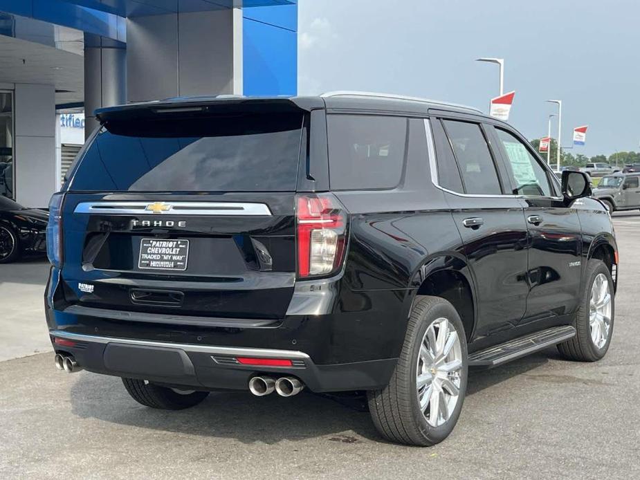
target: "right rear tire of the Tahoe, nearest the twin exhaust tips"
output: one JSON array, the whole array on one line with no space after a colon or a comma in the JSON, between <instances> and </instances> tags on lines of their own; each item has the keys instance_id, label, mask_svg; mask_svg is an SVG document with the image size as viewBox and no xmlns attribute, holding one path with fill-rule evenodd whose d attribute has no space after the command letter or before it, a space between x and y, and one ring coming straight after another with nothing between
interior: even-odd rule
<instances>
[{"instance_id":1,"label":"right rear tire of the Tahoe, nearest the twin exhaust tips","mask_svg":"<svg viewBox=\"0 0 640 480\"><path fill-rule=\"evenodd\" d=\"M446 324L448 331L435 328L438 325L437 322L441 322L442 319L448 321ZM420 368L423 372L421 376L430 376L432 372L428 368L428 363L421 360L424 358L421 356L421 347L423 345L427 347L431 343L437 344L437 342L430 342L426 336L427 330L432 329L432 326L434 328L430 333L435 334L431 337L433 340L438 339L437 333L440 331L445 331L444 338L447 343L454 331L457 335L457 343L450 349L449 356L445 356L444 362L440 364L450 368L454 363L452 358L459 356L459 361L456 360L456 363L459 362L459 367L452 373L444 373L446 381L457 383L454 385L454 387L457 386L458 391L455 403L442 401L447 398L453 399L452 395L449 397L452 387L450 383L446 386L436 384L436 380L440 381L437 375L431 377L432 380L422 387L422 395L417 389L418 369ZM442 370L437 370L437 374L442 374ZM467 374L466 336L457 311L445 299L428 296L416 297L400 358L389 384L383 389L367 392L369 412L378 432L388 441L406 445L427 447L443 441L452 432L460 415L466 394ZM428 390L429 388L431 390ZM426 397L427 391L441 391L443 393L437 393L439 399L437 403L431 401L424 403L425 409L423 410L419 403L420 399L433 398L432 396ZM435 405L444 405L448 418L444 415L440 418L440 413L432 416L431 409ZM435 408L436 412L440 412L438 407ZM439 423L440 421L442 423ZM432 425L432 423L437 423L437 425Z\"/></svg>"}]
</instances>

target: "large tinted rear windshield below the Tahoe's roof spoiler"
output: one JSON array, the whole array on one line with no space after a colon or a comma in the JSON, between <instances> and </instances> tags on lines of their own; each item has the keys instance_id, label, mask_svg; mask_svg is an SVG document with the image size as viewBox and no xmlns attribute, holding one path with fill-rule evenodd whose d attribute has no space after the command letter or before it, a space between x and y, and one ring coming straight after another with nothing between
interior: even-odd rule
<instances>
[{"instance_id":1,"label":"large tinted rear windshield below the Tahoe's roof spoiler","mask_svg":"<svg viewBox=\"0 0 640 480\"><path fill-rule=\"evenodd\" d=\"M70 190L294 191L302 113L107 122Z\"/></svg>"}]
</instances>

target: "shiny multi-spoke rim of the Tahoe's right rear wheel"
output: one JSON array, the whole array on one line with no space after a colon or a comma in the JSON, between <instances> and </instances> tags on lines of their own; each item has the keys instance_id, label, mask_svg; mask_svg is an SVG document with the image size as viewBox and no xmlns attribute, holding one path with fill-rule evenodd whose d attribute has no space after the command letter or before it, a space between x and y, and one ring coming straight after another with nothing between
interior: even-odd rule
<instances>
[{"instance_id":1,"label":"shiny multi-spoke rim of the Tahoe's right rear wheel","mask_svg":"<svg viewBox=\"0 0 640 480\"><path fill-rule=\"evenodd\" d=\"M462 349L455 327L446 318L434 320L420 344L416 389L420 410L432 427L452 415L460 394Z\"/></svg>"}]
</instances>

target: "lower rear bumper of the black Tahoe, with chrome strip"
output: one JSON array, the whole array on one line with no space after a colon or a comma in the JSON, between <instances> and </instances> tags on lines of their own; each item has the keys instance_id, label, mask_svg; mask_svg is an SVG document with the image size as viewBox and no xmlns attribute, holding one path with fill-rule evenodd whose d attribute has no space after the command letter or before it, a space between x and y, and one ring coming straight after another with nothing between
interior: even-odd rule
<instances>
[{"instance_id":1,"label":"lower rear bumper of the black Tahoe, with chrome strip","mask_svg":"<svg viewBox=\"0 0 640 480\"><path fill-rule=\"evenodd\" d=\"M56 352L71 354L88 371L192 389L247 390L257 374L295 376L311 391L349 391L386 385L396 359L316 365L302 351L215 347L84 335L51 330ZM62 342L55 342L55 339ZM283 358L287 367L239 364L237 357Z\"/></svg>"}]
</instances>

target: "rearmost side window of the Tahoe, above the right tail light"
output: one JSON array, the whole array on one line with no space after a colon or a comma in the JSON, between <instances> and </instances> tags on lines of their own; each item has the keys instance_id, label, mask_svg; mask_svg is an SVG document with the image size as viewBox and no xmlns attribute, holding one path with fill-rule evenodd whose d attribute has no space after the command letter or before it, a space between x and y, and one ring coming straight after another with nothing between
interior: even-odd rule
<instances>
[{"instance_id":1,"label":"rearmost side window of the Tahoe, above the right tail light","mask_svg":"<svg viewBox=\"0 0 640 480\"><path fill-rule=\"evenodd\" d=\"M328 115L331 190L397 187L407 143L406 118Z\"/></svg>"}]
</instances>

